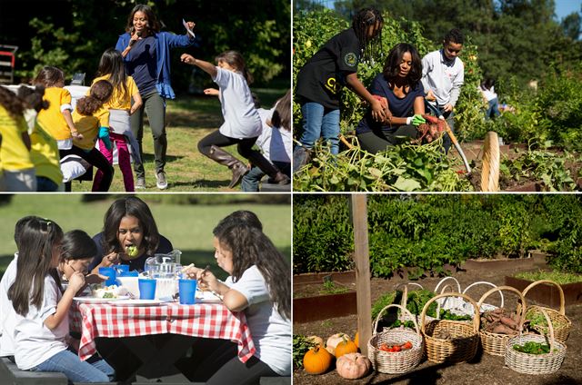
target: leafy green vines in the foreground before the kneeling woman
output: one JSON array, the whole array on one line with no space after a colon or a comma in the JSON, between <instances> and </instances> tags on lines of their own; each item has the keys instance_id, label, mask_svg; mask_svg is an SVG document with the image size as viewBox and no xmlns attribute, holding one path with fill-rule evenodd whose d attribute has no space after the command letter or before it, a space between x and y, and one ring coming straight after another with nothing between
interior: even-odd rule
<instances>
[{"instance_id":1,"label":"leafy green vines in the foreground before the kneeling woman","mask_svg":"<svg viewBox=\"0 0 582 385\"><path fill-rule=\"evenodd\" d=\"M469 191L470 183L454 171L457 158L443 157L440 141L401 144L385 152L367 153L354 147L337 156L321 146L311 163L294 174L295 191L414 192Z\"/></svg>"}]
</instances>

